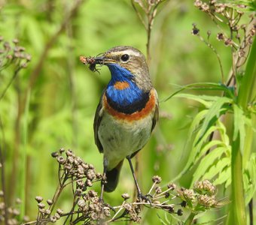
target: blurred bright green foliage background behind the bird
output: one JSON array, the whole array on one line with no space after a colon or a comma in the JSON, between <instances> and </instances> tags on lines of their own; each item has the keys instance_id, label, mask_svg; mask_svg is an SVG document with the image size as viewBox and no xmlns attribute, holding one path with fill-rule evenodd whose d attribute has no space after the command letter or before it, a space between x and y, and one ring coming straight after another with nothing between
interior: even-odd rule
<instances>
[{"instance_id":1,"label":"blurred bright green foliage background behind the bird","mask_svg":"<svg viewBox=\"0 0 256 225\"><path fill-rule=\"evenodd\" d=\"M17 37L32 55L0 103L9 201L23 196L25 190L26 214L32 219L37 210L34 197L49 199L56 189L57 163L51 152L72 148L102 172L102 154L93 140L93 118L110 74L104 67L100 74L91 72L79 62L79 56L97 55L118 45L134 46L146 54L147 35L130 0L84 0L69 17L76 2L0 1L0 34L8 41ZM212 20L197 10L193 1L164 1L154 20L149 65L160 101L178 86L221 82L217 58L190 34L192 23L197 23L203 37L212 32L210 40L221 55L224 74L230 71L230 49L216 40L218 28ZM11 69L2 71L0 79L2 92L11 79ZM160 102L157 129L139 155L142 190L151 187L152 175L160 175L167 183L183 169L189 153L187 128L198 110L197 104L183 99ZM176 184L189 187L190 180L187 174ZM133 193L128 163L124 163L117 190L106 193L105 200L120 204L124 192ZM220 191L219 196L224 193ZM61 204L70 208L68 192ZM144 224L150 224L152 218L159 221L157 211L145 213ZM223 214L215 211L204 217L209 220Z\"/></svg>"}]
</instances>

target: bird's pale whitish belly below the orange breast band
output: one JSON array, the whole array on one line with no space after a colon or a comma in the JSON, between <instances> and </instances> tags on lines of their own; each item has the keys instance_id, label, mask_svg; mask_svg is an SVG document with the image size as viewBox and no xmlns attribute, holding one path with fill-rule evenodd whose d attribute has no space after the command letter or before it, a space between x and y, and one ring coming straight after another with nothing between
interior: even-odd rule
<instances>
[{"instance_id":1,"label":"bird's pale whitish belly below the orange breast band","mask_svg":"<svg viewBox=\"0 0 256 225\"><path fill-rule=\"evenodd\" d=\"M113 116L105 113L98 134L108 170L117 166L126 156L140 150L148 142L151 127L151 116L127 122L113 119Z\"/></svg>"}]
</instances>

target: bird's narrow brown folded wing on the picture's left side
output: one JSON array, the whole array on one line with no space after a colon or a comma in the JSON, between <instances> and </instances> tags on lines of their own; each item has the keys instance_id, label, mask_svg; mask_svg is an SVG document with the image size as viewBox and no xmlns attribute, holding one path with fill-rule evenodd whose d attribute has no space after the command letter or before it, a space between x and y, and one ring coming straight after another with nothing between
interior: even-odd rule
<instances>
[{"instance_id":1,"label":"bird's narrow brown folded wing on the picture's left side","mask_svg":"<svg viewBox=\"0 0 256 225\"><path fill-rule=\"evenodd\" d=\"M103 95L104 95L104 92L103 92ZM101 121L102 121L102 97L100 98L98 107L96 109L96 112L94 115L94 122L93 122L94 141L99 149L99 152L103 152L102 143L99 141L99 134L98 134L99 124Z\"/></svg>"}]
</instances>

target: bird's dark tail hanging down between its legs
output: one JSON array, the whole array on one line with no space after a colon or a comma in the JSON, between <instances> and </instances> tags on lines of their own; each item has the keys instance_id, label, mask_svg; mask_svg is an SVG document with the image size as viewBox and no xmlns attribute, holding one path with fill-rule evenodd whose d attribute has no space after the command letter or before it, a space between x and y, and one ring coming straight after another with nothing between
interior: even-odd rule
<instances>
[{"instance_id":1,"label":"bird's dark tail hanging down between its legs","mask_svg":"<svg viewBox=\"0 0 256 225\"><path fill-rule=\"evenodd\" d=\"M106 192L112 192L117 187L120 170L123 166L123 160L118 163L117 166L114 167L114 169L107 170L106 172L106 178L107 182L104 184L104 190Z\"/></svg>"}]
</instances>

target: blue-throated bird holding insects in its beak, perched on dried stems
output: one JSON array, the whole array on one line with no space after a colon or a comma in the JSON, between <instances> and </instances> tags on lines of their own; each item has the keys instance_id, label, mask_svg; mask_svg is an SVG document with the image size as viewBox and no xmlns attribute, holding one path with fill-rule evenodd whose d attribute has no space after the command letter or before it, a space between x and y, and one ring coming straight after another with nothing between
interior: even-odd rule
<instances>
[{"instance_id":1,"label":"blue-throated bird holding insects in its beak, perched on dried stems","mask_svg":"<svg viewBox=\"0 0 256 225\"><path fill-rule=\"evenodd\" d=\"M142 198L131 158L148 142L158 120L157 92L152 86L145 56L132 46L115 46L100 56L81 56L81 62L89 64L92 71L96 71L96 65L106 65L111 72L93 124L96 145L104 155L102 193L117 187L126 158L137 194Z\"/></svg>"}]
</instances>

